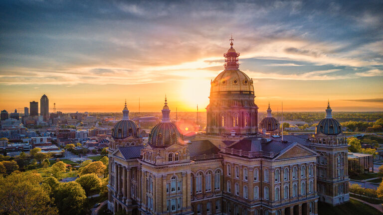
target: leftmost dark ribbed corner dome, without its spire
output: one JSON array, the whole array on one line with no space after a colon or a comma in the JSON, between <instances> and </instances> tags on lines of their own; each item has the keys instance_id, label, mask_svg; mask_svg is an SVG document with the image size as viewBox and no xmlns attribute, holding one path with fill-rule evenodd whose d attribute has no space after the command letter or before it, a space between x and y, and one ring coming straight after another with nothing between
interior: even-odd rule
<instances>
[{"instance_id":1,"label":"leftmost dark ribbed corner dome, without its spire","mask_svg":"<svg viewBox=\"0 0 383 215\"><path fill-rule=\"evenodd\" d=\"M128 136L139 137L139 135L139 128L132 120L121 120L112 128L112 137L114 139L124 139Z\"/></svg>"}]
</instances>

